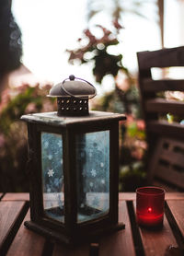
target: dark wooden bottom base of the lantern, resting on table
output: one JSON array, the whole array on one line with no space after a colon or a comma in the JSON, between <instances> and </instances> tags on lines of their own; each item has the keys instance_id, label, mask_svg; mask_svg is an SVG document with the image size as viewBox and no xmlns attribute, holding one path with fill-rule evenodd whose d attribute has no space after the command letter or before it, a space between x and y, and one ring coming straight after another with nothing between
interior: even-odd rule
<instances>
[{"instance_id":1,"label":"dark wooden bottom base of the lantern, resting on table","mask_svg":"<svg viewBox=\"0 0 184 256\"><path fill-rule=\"evenodd\" d=\"M119 231L125 228L125 225L123 223L118 223L113 226L99 228L96 231L88 234L77 233L76 236L69 237L66 234L53 231L51 228L45 227L45 226L43 227L40 224L35 223L33 221L25 221L24 225L25 227L28 227L30 230L39 233L41 236L44 236L47 239L51 239L52 241L56 241L59 243L64 243L65 245L68 245L68 246L76 246L87 241L90 242L94 239L97 239L103 236L108 236L109 234L115 231Z\"/></svg>"}]
</instances>

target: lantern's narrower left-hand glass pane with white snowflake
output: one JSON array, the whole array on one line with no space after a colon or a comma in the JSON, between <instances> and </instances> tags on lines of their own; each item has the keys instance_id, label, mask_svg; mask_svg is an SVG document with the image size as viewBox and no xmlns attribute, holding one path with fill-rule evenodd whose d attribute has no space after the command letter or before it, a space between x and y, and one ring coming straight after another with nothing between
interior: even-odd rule
<instances>
[{"instance_id":1,"label":"lantern's narrower left-hand glass pane with white snowflake","mask_svg":"<svg viewBox=\"0 0 184 256\"><path fill-rule=\"evenodd\" d=\"M62 135L41 133L41 166L45 215L64 222Z\"/></svg>"}]
</instances>

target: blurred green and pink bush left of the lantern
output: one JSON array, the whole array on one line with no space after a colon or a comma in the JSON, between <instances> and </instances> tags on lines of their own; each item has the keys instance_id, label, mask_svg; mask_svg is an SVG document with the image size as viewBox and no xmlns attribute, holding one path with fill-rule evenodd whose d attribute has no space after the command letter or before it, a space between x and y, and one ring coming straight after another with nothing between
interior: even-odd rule
<instances>
[{"instance_id":1,"label":"blurred green and pink bush left of the lantern","mask_svg":"<svg viewBox=\"0 0 184 256\"><path fill-rule=\"evenodd\" d=\"M46 88L47 90L48 88ZM0 191L28 192L26 174L27 126L20 121L22 114L53 111L54 102L45 97L39 86L24 85L8 88L1 94L0 102Z\"/></svg>"}]
</instances>

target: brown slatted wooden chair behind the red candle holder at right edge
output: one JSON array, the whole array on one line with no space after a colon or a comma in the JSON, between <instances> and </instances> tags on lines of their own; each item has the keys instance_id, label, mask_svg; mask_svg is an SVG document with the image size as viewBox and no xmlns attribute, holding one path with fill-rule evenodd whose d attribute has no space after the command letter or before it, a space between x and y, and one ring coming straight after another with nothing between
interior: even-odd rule
<instances>
[{"instance_id":1,"label":"brown slatted wooden chair behind the red candle holder at right edge","mask_svg":"<svg viewBox=\"0 0 184 256\"><path fill-rule=\"evenodd\" d=\"M137 52L137 58L148 143L148 183L159 178L184 190L184 124L163 119L169 113L184 120L184 100L165 97L167 91L184 91L184 79L154 80L151 72L153 67L184 66L184 47Z\"/></svg>"}]
</instances>

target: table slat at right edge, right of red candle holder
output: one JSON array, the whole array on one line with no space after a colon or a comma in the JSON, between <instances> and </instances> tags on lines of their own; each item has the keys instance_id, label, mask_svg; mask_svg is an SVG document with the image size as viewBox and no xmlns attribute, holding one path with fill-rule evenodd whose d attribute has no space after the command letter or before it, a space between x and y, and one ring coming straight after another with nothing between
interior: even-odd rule
<instances>
[{"instance_id":1,"label":"table slat at right edge, right of red candle holder","mask_svg":"<svg viewBox=\"0 0 184 256\"><path fill-rule=\"evenodd\" d=\"M181 231L181 234L184 237L184 201L167 201L167 204L171 210L172 215L174 216L178 228Z\"/></svg>"}]
</instances>

